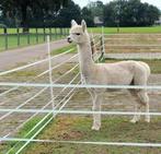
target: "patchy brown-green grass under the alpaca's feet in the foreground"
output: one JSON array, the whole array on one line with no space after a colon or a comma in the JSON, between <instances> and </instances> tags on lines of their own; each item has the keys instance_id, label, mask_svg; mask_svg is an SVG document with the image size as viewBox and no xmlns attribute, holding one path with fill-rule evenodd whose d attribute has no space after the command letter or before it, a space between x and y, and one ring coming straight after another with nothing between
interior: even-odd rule
<instances>
[{"instance_id":1,"label":"patchy brown-green grass under the alpaca's feet in the foreground","mask_svg":"<svg viewBox=\"0 0 161 154\"><path fill-rule=\"evenodd\" d=\"M37 137L44 140L92 142L161 142L159 118L131 125L126 117L106 117L100 131L92 131L92 117L61 116ZM161 149L68 143L32 143L22 154L160 154Z\"/></svg>"}]
</instances>

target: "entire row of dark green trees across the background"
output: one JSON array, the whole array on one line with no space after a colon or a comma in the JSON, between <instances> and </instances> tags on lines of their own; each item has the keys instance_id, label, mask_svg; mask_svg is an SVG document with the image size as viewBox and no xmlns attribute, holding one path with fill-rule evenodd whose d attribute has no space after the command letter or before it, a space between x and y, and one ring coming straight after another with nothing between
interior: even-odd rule
<instances>
[{"instance_id":1,"label":"entire row of dark green trees across the background","mask_svg":"<svg viewBox=\"0 0 161 154\"><path fill-rule=\"evenodd\" d=\"M61 8L64 5L64 8ZM160 11L140 0L90 2L82 10L72 0L0 0L0 24L23 27L69 27L70 21L87 21L94 26L94 17L105 26L149 26L160 16Z\"/></svg>"}]
</instances>

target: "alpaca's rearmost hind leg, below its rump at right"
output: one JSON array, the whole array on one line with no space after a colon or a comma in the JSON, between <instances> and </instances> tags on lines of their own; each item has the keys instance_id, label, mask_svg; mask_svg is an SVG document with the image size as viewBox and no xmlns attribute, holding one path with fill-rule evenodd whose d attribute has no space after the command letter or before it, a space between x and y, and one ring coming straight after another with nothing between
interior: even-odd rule
<instances>
[{"instance_id":1,"label":"alpaca's rearmost hind leg, below its rump at right","mask_svg":"<svg viewBox=\"0 0 161 154\"><path fill-rule=\"evenodd\" d=\"M148 94L147 94L147 92L145 92L145 91L140 91L139 93L138 93L138 96L139 96L139 98L140 98L140 102L146 106L146 121L147 122L150 122L150 115L149 115L149 96L148 96Z\"/></svg>"}]
</instances>

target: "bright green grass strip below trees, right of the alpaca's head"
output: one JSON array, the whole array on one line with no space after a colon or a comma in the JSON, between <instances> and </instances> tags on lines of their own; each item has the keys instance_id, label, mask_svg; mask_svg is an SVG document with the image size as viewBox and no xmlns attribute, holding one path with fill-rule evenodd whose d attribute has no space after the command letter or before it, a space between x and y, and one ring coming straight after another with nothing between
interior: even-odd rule
<instances>
[{"instance_id":1,"label":"bright green grass strip below trees, right of the alpaca's head","mask_svg":"<svg viewBox=\"0 0 161 154\"><path fill-rule=\"evenodd\" d=\"M101 27L89 28L89 32L92 33L102 33ZM117 27L104 27L105 34L115 34L117 33ZM151 26L151 27L120 27L119 33L161 33L161 26Z\"/></svg>"}]
</instances>

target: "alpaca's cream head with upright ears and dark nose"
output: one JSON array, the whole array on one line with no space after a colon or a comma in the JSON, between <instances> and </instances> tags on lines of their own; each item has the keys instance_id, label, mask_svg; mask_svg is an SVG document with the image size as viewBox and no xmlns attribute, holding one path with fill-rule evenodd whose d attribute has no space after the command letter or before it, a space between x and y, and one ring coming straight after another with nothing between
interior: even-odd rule
<instances>
[{"instance_id":1,"label":"alpaca's cream head with upright ears and dark nose","mask_svg":"<svg viewBox=\"0 0 161 154\"><path fill-rule=\"evenodd\" d=\"M76 21L71 21L70 35L68 36L68 43L83 44L89 39L87 23L82 20L81 25L78 25Z\"/></svg>"}]
</instances>

